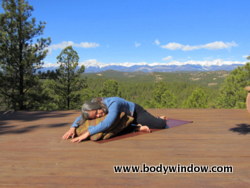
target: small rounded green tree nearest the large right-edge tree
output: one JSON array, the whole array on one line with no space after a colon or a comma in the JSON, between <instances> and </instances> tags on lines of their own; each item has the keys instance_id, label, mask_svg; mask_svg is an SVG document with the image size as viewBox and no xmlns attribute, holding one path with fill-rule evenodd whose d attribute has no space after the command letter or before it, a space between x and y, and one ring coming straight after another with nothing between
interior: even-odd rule
<instances>
[{"instance_id":1,"label":"small rounded green tree nearest the large right-edge tree","mask_svg":"<svg viewBox=\"0 0 250 188\"><path fill-rule=\"evenodd\" d=\"M208 96L203 89L197 88L185 101L187 108L206 108L208 104Z\"/></svg>"}]
</instances>

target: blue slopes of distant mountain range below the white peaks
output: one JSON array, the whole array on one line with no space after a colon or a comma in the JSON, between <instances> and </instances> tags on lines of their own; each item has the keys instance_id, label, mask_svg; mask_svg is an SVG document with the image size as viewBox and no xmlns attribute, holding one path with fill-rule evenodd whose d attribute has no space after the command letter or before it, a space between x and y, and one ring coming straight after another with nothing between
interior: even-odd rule
<instances>
[{"instance_id":1,"label":"blue slopes of distant mountain range below the white peaks","mask_svg":"<svg viewBox=\"0 0 250 188\"><path fill-rule=\"evenodd\" d=\"M231 65L211 65L211 66L202 66L194 64L186 65L131 65L131 66L122 66L122 65L86 65L85 72L87 73L96 73L107 70L121 71L121 72L180 72L180 71L231 71L237 68L238 66L243 66L242 64L231 64ZM52 71L57 69L56 66L44 67L40 69L42 72L48 70Z\"/></svg>"}]
</instances>

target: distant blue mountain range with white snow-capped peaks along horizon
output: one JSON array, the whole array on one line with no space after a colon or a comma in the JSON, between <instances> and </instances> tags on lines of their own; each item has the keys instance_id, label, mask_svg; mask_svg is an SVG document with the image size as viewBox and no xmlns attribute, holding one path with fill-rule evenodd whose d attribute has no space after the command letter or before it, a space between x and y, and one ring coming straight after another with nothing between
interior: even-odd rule
<instances>
[{"instance_id":1,"label":"distant blue mountain range with white snow-capped peaks along horizon","mask_svg":"<svg viewBox=\"0 0 250 188\"><path fill-rule=\"evenodd\" d=\"M79 65L85 66L85 72L87 73L96 73L102 72L107 70L114 70L114 71L121 71L121 72L178 72L178 71L231 71L238 66L243 66L245 63L243 62L223 62L220 61L216 62L185 62L185 63L178 63L172 62L168 64L162 63L111 63L111 64L103 64L96 61L88 61L79 63ZM50 64L44 66L44 68L40 69L40 71L47 71L47 70L55 70L58 67L58 64Z\"/></svg>"}]
</instances>

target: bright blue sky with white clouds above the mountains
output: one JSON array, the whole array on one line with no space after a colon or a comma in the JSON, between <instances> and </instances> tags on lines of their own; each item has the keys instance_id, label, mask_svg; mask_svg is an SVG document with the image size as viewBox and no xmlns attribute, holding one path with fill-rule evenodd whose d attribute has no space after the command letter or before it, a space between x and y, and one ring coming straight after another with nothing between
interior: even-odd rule
<instances>
[{"instance_id":1,"label":"bright blue sky with white clouds above the mountains","mask_svg":"<svg viewBox=\"0 0 250 188\"><path fill-rule=\"evenodd\" d=\"M51 37L46 64L73 45L85 64L246 62L248 0L29 0Z\"/></svg>"}]
</instances>

